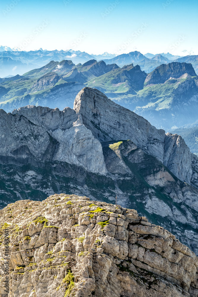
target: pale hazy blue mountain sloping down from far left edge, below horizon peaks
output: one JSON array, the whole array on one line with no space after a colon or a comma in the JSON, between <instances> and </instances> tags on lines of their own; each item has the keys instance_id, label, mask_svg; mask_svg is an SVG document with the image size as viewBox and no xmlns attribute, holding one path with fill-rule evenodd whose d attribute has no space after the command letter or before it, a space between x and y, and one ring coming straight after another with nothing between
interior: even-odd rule
<instances>
[{"instance_id":1,"label":"pale hazy blue mountain sloping down from far left edge, below horizon peaks","mask_svg":"<svg viewBox=\"0 0 198 297\"><path fill-rule=\"evenodd\" d=\"M8 57L0 57L0 77L17 74L21 75L35 67L38 67L38 65L22 63L21 61L15 61Z\"/></svg>"}]
</instances>

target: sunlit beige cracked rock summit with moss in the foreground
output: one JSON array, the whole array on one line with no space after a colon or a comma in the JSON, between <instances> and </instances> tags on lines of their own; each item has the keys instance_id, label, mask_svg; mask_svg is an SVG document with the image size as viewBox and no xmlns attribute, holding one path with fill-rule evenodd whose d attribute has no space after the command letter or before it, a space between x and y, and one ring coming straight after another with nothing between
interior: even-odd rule
<instances>
[{"instance_id":1,"label":"sunlit beige cracked rock summit with moss in the foreground","mask_svg":"<svg viewBox=\"0 0 198 297\"><path fill-rule=\"evenodd\" d=\"M197 256L134 209L55 194L0 213L2 297L198 294Z\"/></svg>"}]
</instances>

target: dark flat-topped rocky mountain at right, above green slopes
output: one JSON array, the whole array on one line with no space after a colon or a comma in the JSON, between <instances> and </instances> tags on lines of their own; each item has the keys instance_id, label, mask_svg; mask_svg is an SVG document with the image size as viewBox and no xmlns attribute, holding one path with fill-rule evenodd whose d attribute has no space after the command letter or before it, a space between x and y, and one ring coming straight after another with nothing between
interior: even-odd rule
<instances>
[{"instance_id":1,"label":"dark flat-topped rocky mountain at right, above green slopes","mask_svg":"<svg viewBox=\"0 0 198 297\"><path fill-rule=\"evenodd\" d=\"M179 78L181 75L188 73L191 76L197 76L192 64L172 62L162 64L151 72L145 79L145 85L151 83L164 83L169 78Z\"/></svg>"}]
</instances>

